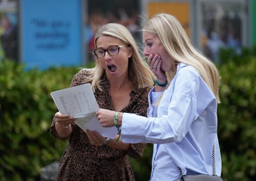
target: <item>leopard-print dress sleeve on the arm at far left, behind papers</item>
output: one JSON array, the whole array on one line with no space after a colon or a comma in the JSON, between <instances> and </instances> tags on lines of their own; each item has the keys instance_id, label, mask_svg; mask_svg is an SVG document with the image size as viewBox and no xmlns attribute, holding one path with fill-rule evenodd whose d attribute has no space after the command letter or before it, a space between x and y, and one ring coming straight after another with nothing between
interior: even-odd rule
<instances>
[{"instance_id":1,"label":"leopard-print dress sleeve on the arm at far left, behind papers","mask_svg":"<svg viewBox=\"0 0 256 181\"><path fill-rule=\"evenodd\" d=\"M71 84L70 84L70 87L75 87L77 85L81 85L81 75L82 75L82 70L80 70L77 74L74 75L72 81L71 81ZM56 131L56 128L55 128L55 117L53 118L53 121L51 123L51 134L55 137L55 138L62 138L58 135L57 131ZM74 126L75 126L75 123L72 123L71 124L71 128L72 128L72 132L74 130Z\"/></svg>"}]
</instances>

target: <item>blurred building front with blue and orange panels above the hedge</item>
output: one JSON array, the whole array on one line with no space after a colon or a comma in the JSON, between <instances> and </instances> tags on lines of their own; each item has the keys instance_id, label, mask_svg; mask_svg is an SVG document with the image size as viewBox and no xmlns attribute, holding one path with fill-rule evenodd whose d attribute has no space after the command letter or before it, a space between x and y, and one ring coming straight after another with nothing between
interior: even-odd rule
<instances>
[{"instance_id":1,"label":"blurred building front with blue and orange panels above the hedge","mask_svg":"<svg viewBox=\"0 0 256 181\"><path fill-rule=\"evenodd\" d=\"M256 44L254 0L0 0L0 60L27 68L83 66L93 59L99 25L120 23L142 43L141 19L178 18L194 45L218 62L220 48Z\"/></svg>"}]
</instances>

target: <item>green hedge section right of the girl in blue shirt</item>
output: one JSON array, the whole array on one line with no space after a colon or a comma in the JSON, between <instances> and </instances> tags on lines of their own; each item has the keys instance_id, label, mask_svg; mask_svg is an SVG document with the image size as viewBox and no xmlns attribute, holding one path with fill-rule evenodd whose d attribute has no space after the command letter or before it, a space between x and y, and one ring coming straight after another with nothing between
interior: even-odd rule
<instances>
[{"instance_id":1,"label":"green hedge section right of the girl in blue shirt","mask_svg":"<svg viewBox=\"0 0 256 181\"><path fill-rule=\"evenodd\" d=\"M220 53L218 138L223 180L256 178L256 47Z\"/></svg>"}]
</instances>

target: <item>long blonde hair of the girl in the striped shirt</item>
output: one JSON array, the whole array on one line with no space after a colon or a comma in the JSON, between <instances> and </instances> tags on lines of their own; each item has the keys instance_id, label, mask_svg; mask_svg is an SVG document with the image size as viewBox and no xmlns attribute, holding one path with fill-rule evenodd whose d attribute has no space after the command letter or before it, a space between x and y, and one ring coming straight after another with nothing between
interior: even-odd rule
<instances>
[{"instance_id":1,"label":"long blonde hair of the girl in the striped shirt","mask_svg":"<svg viewBox=\"0 0 256 181\"><path fill-rule=\"evenodd\" d=\"M176 74L178 63L191 65L200 73L217 102L220 103L220 75L217 68L213 62L193 47L182 25L174 16L169 14L154 15L146 22L143 31L158 36L166 51L175 59L174 72L168 72L167 75L169 79L173 79Z\"/></svg>"}]
</instances>

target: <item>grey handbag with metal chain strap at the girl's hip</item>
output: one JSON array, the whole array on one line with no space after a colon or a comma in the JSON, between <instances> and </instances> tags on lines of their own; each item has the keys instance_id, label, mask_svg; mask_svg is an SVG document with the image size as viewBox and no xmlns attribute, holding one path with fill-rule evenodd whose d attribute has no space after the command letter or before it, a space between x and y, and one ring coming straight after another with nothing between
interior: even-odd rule
<instances>
[{"instance_id":1,"label":"grey handbag with metal chain strap at the girl's hip","mask_svg":"<svg viewBox=\"0 0 256 181\"><path fill-rule=\"evenodd\" d=\"M213 143L213 174L212 175L182 175L181 169L178 167L183 181L223 181L221 177L215 174L215 147Z\"/></svg>"}]
</instances>

